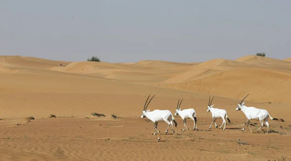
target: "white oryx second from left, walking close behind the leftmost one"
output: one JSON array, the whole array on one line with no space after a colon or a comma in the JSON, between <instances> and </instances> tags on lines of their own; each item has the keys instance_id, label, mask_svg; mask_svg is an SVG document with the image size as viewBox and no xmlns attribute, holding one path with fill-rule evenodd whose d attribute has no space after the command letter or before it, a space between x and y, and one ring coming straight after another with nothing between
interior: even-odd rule
<instances>
[{"instance_id":1,"label":"white oryx second from left, walking close behind the leftmost one","mask_svg":"<svg viewBox=\"0 0 291 161\"><path fill-rule=\"evenodd\" d=\"M184 123L184 129L181 129L182 131L185 131L185 127L186 127L186 119L191 118L194 121L194 130L195 130L195 125L196 125L196 130L197 130L197 118L196 118L196 112L193 108L189 108L189 109L184 109L181 111L182 108L180 108L180 105L182 103L183 99L180 102L180 99L178 100L178 104L177 104L177 108L176 108L176 113L175 116L179 115L182 119L183 119L183 123ZM180 104L179 104L180 102ZM189 130L186 127L187 130Z\"/></svg>"}]
</instances>

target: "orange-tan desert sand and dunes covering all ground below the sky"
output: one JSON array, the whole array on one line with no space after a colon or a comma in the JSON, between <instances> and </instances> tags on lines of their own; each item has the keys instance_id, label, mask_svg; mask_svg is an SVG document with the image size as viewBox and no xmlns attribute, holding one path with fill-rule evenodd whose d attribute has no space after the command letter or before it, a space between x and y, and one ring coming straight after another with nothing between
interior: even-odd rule
<instances>
[{"instance_id":1,"label":"orange-tan desert sand and dunes covering all ground below the sky","mask_svg":"<svg viewBox=\"0 0 291 161\"><path fill-rule=\"evenodd\" d=\"M290 59L108 63L0 56L0 80L0 161L291 161ZM147 109L173 115L184 99L182 109L196 111L198 131L192 120L181 131L175 116L175 134L171 128L165 134L160 122L161 132L152 135L153 123L141 118L150 93L156 96ZM269 118L265 134L251 120L253 132L242 132L246 117L235 108L248 93L246 106L284 121ZM231 120L225 130L209 129L210 95Z\"/></svg>"}]
</instances>

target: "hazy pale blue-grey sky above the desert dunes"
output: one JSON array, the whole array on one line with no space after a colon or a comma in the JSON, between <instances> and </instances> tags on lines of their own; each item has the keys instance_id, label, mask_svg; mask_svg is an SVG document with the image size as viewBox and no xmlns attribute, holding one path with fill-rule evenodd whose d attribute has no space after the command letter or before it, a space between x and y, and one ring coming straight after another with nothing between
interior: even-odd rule
<instances>
[{"instance_id":1,"label":"hazy pale blue-grey sky above the desert dunes","mask_svg":"<svg viewBox=\"0 0 291 161\"><path fill-rule=\"evenodd\" d=\"M291 57L291 0L0 0L0 55L108 62Z\"/></svg>"}]
</instances>

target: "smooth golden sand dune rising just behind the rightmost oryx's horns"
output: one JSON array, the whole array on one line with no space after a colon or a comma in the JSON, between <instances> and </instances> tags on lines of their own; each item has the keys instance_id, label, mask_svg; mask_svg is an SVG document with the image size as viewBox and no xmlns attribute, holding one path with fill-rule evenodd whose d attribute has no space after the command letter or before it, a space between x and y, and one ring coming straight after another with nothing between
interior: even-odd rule
<instances>
[{"instance_id":1,"label":"smooth golden sand dune rising just behind the rightmost oryx's horns","mask_svg":"<svg viewBox=\"0 0 291 161\"><path fill-rule=\"evenodd\" d=\"M209 93L252 102L291 102L291 74L266 70L235 69L214 73L208 77L165 87Z\"/></svg>"}]
</instances>

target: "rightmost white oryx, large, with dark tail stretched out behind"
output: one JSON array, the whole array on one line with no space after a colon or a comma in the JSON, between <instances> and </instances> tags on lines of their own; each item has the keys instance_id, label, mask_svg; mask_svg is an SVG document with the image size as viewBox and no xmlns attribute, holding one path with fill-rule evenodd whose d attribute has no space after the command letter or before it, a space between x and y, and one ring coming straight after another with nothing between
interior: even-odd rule
<instances>
[{"instance_id":1,"label":"rightmost white oryx, large, with dark tail stretched out behind","mask_svg":"<svg viewBox=\"0 0 291 161\"><path fill-rule=\"evenodd\" d=\"M248 94L249 95L249 94ZM246 95L242 101L248 96ZM257 132L264 126L263 124L263 121L265 121L267 127L268 127L268 130L266 133L268 133L269 131L269 123L268 123L268 118L270 117L272 120L278 120L278 118L272 118L268 111L265 110L265 109L259 109L259 108L255 108L255 107L248 107L248 106L245 106L243 105L244 102L242 103L242 101L238 104L237 108L235 109L236 111L240 111L242 110L242 112L244 113L244 115L246 116L247 120L245 121L244 123L244 126L243 126L243 129L242 129L242 132L244 131L244 128L245 128L245 125L250 129L251 132L252 129L249 127L249 123L250 123L250 120L251 119L254 119L254 120L259 120L260 122L260 127L259 129L257 130Z\"/></svg>"}]
</instances>

